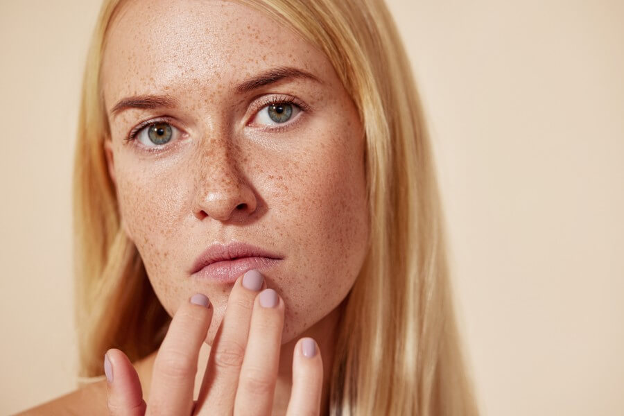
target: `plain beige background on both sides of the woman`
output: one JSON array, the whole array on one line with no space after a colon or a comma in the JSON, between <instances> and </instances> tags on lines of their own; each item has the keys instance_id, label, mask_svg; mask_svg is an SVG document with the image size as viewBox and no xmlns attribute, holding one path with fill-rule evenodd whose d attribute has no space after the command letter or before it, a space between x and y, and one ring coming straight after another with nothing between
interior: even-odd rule
<instances>
[{"instance_id":1,"label":"plain beige background on both sides of the woman","mask_svg":"<svg viewBox=\"0 0 624 416\"><path fill-rule=\"evenodd\" d=\"M99 0L0 0L0 413L72 390L70 177ZM484 415L624 414L624 2L390 0Z\"/></svg>"}]
</instances>

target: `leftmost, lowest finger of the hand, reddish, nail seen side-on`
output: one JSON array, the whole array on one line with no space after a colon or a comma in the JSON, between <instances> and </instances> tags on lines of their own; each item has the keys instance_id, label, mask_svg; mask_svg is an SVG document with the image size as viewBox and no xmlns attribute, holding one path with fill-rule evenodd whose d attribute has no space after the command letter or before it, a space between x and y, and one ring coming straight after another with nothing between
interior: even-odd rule
<instances>
[{"instance_id":1,"label":"leftmost, lowest finger of the hand, reddish, nail seen side-on","mask_svg":"<svg viewBox=\"0 0 624 416\"><path fill-rule=\"evenodd\" d=\"M107 405L111 416L144 416L146 404L137 370L119 349L109 349L104 356L107 379Z\"/></svg>"}]
</instances>

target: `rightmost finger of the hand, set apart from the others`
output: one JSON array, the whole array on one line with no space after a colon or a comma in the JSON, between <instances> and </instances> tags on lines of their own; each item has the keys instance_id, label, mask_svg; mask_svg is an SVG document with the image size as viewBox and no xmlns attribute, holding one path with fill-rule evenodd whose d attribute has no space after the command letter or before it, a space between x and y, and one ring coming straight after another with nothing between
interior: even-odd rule
<instances>
[{"instance_id":1,"label":"rightmost finger of the hand, set apart from the others","mask_svg":"<svg viewBox=\"0 0 624 416\"><path fill-rule=\"evenodd\" d=\"M312 338L302 338L293 354L293 388L287 416L318 416L323 387L323 361Z\"/></svg>"}]
</instances>

